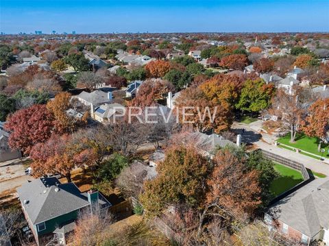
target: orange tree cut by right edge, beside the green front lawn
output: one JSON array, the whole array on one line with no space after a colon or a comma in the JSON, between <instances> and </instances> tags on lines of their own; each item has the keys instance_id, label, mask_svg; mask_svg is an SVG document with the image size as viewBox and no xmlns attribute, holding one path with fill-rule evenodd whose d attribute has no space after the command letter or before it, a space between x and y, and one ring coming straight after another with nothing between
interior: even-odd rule
<instances>
[{"instance_id":1,"label":"orange tree cut by right edge, beside the green front lawn","mask_svg":"<svg viewBox=\"0 0 329 246\"><path fill-rule=\"evenodd\" d=\"M310 106L302 130L307 136L321 139L318 147L320 151L321 143L329 140L329 98L318 99Z\"/></svg>"}]
</instances>

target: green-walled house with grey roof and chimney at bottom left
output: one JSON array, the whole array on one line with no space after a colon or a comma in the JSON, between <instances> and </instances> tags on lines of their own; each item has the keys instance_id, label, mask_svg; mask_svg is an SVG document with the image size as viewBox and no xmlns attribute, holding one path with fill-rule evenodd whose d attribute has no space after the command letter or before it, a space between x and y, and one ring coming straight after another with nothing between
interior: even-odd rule
<instances>
[{"instance_id":1,"label":"green-walled house with grey roof and chimney at bottom left","mask_svg":"<svg viewBox=\"0 0 329 246\"><path fill-rule=\"evenodd\" d=\"M57 177L41 177L17 188L25 219L37 245L45 245L42 238L56 234L59 245L74 230L80 212L100 212L112 206L98 191L81 193L74 183L61 184Z\"/></svg>"}]
</instances>

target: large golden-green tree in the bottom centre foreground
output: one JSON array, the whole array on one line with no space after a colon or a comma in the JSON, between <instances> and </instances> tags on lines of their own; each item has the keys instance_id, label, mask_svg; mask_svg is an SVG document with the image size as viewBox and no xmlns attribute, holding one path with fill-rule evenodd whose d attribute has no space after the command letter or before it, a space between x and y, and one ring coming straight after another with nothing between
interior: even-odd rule
<instances>
[{"instance_id":1,"label":"large golden-green tree in the bottom centre foreground","mask_svg":"<svg viewBox=\"0 0 329 246\"><path fill-rule=\"evenodd\" d=\"M159 214L170 204L197 208L204 201L208 160L194 148L172 147L157 171L154 180L145 182L145 192L140 196L150 215Z\"/></svg>"}]
</instances>

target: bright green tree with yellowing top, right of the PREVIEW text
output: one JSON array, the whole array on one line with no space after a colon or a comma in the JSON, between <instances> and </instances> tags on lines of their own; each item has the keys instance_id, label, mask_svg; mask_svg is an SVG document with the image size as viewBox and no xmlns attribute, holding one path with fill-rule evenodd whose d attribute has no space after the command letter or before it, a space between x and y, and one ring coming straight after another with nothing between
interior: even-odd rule
<instances>
[{"instance_id":1,"label":"bright green tree with yellowing top, right of the PREVIEW text","mask_svg":"<svg viewBox=\"0 0 329 246\"><path fill-rule=\"evenodd\" d=\"M269 107L274 92L274 86L272 84L265 84L263 79L248 79L243 84L236 108L248 112L264 110Z\"/></svg>"}]
</instances>

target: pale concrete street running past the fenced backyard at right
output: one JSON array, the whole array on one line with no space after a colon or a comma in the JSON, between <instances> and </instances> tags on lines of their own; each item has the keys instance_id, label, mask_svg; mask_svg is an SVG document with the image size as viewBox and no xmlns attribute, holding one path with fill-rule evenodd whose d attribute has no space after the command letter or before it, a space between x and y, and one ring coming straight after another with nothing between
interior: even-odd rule
<instances>
[{"instance_id":1,"label":"pale concrete street running past the fenced backyard at right","mask_svg":"<svg viewBox=\"0 0 329 246\"><path fill-rule=\"evenodd\" d=\"M281 149L279 147L276 147L274 145L276 137L265 132L262 132L262 134L260 134L258 132L260 128L261 121L255 121L250 124L234 122L232 125L232 129L242 134L243 143L253 144L256 145L259 149L264 149L266 151L270 151L271 153L276 153L279 156L290 158L291 160L295 160L296 162L304 164L305 167L311 169L312 171L315 171L317 173L323 173L329 176L329 164L326 164L325 162L321 162L314 158L310 158L301 153L295 153L287 149ZM245 129L245 132L242 133L242 129Z\"/></svg>"}]
</instances>

